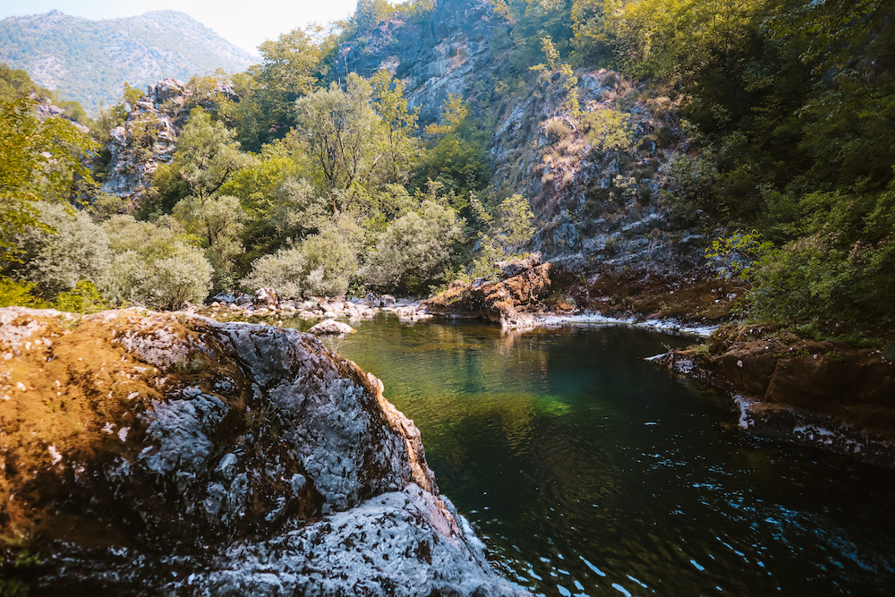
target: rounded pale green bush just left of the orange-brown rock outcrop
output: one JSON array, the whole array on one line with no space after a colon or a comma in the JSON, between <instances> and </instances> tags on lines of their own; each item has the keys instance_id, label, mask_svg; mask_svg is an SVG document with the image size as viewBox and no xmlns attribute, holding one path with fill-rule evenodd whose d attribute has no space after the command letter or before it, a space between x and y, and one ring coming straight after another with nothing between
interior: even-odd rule
<instances>
[{"instance_id":1,"label":"rounded pale green bush just left of the orange-brown rock outcrop","mask_svg":"<svg viewBox=\"0 0 895 597\"><path fill-rule=\"evenodd\" d=\"M463 226L456 212L432 200L393 221L361 271L367 286L417 294L445 276Z\"/></svg>"}]
</instances>

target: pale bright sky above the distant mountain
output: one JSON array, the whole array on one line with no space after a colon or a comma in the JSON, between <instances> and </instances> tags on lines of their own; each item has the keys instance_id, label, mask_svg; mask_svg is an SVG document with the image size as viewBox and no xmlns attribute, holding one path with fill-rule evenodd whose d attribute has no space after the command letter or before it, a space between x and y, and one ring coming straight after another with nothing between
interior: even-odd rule
<instances>
[{"instance_id":1,"label":"pale bright sky above the distant mountain","mask_svg":"<svg viewBox=\"0 0 895 597\"><path fill-rule=\"evenodd\" d=\"M0 19L22 14L59 10L87 19L115 19L149 11L175 10L187 13L253 55L265 39L303 27L311 21L327 23L354 13L357 0L0 0Z\"/></svg>"}]
</instances>

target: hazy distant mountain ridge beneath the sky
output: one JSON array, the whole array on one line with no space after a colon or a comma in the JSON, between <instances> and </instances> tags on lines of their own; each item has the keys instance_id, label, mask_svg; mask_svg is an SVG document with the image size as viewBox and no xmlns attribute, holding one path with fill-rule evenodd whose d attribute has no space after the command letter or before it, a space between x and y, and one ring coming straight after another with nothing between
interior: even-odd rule
<instances>
[{"instance_id":1,"label":"hazy distant mountain ridge beneath the sky","mask_svg":"<svg viewBox=\"0 0 895 597\"><path fill-rule=\"evenodd\" d=\"M96 114L100 100L121 98L124 81L145 88L165 77L243 71L258 58L185 13L91 21L50 11L0 21L0 62Z\"/></svg>"}]
</instances>

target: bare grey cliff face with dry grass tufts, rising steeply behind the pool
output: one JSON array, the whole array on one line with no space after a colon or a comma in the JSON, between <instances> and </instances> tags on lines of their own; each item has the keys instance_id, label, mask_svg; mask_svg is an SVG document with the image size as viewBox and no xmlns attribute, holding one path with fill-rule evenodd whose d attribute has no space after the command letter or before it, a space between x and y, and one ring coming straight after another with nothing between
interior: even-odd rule
<instances>
[{"instance_id":1,"label":"bare grey cliff face with dry grass tufts, rising steeply behind the pool","mask_svg":"<svg viewBox=\"0 0 895 597\"><path fill-rule=\"evenodd\" d=\"M703 231L675 221L662 200L674 185L669 161L690 149L675 102L606 70L576 72L583 110L577 120L555 75L524 93L501 95L500 81L513 78L511 30L480 0L439 2L424 18L394 13L341 48L335 76L384 68L405 81L423 122L438 117L448 92L462 95L483 125L496 122L489 131L496 167L489 191L530 200L537 232L526 249L542 252L560 278L563 270L584 277L570 290L580 306L605 308L607 286L617 287L622 274L652 280L651 290L668 286L661 294L672 290L672 280L715 277L703 255ZM603 143L610 134L599 130L605 115L625 123L625 147ZM735 290L720 296L729 301Z\"/></svg>"}]
</instances>

